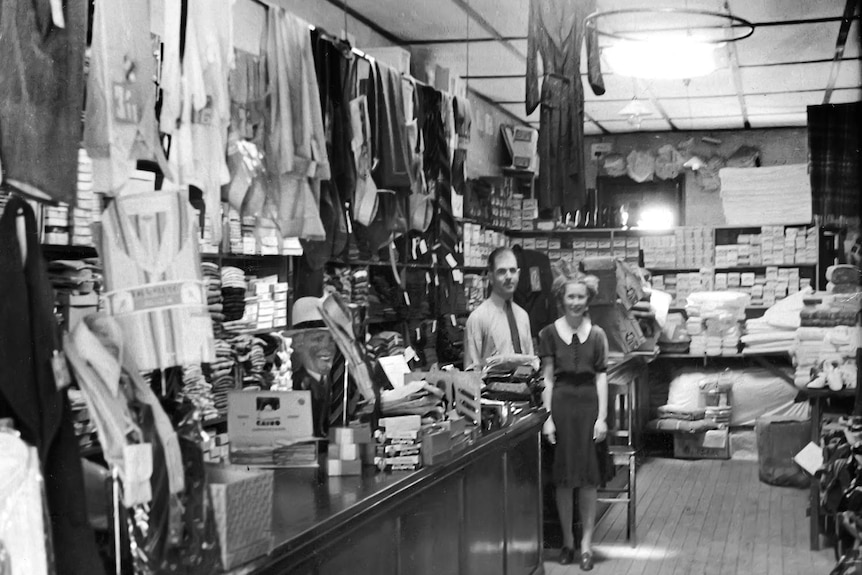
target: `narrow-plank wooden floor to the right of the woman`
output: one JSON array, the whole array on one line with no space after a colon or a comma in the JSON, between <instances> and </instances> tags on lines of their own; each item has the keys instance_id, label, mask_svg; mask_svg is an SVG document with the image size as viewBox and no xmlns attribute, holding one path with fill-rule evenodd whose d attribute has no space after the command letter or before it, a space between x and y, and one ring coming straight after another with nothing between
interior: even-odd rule
<instances>
[{"instance_id":1,"label":"narrow-plank wooden floor to the right of the woman","mask_svg":"<svg viewBox=\"0 0 862 575\"><path fill-rule=\"evenodd\" d=\"M808 548L808 490L761 483L756 461L647 459L638 469L638 546L626 510L596 525L596 575L811 575L829 573L832 549ZM547 575L581 573L546 554Z\"/></svg>"}]
</instances>

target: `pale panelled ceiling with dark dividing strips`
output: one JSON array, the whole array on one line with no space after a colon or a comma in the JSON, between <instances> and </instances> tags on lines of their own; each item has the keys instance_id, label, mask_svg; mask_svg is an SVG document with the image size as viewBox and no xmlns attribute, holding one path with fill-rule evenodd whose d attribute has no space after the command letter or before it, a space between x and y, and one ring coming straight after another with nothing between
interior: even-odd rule
<instances>
[{"instance_id":1,"label":"pale panelled ceiling with dark dividing strips","mask_svg":"<svg viewBox=\"0 0 862 575\"><path fill-rule=\"evenodd\" d=\"M328 0L345 7L340 0ZM575 0L577 1L577 0ZM468 88L514 118L538 126L524 105L529 0L345 0L353 16L389 39L465 79ZM615 75L603 56L606 92L586 80L586 134L636 128L620 110L637 97L654 114L641 131L804 126L806 106L862 100L859 0L598 0L599 10L688 7L730 12L753 34L719 48L720 67L690 80L636 80ZM839 33L851 15L843 53ZM601 40L606 47L609 39ZM733 53L735 49L735 54ZM585 51L583 52L585 54Z\"/></svg>"}]
</instances>

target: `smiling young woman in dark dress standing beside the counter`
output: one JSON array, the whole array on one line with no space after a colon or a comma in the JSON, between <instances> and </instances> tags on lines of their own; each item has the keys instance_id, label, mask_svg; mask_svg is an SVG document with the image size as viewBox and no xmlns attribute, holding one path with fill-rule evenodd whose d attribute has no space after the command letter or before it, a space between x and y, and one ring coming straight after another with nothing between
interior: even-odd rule
<instances>
[{"instance_id":1,"label":"smiling young woman in dark dress standing beside the counter","mask_svg":"<svg viewBox=\"0 0 862 575\"><path fill-rule=\"evenodd\" d=\"M582 535L580 567L593 568L592 539L596 490L612 473L605 441L608 406L608 340L587 314L598 278L558 278L554 295L562 312L539 332L539 356L545 378L543 401L551 417L544 434L556 444L553 480L563 528L560 563L574 562L572 531L574 490L578 490Z\"/></svg>"}]
</instances>

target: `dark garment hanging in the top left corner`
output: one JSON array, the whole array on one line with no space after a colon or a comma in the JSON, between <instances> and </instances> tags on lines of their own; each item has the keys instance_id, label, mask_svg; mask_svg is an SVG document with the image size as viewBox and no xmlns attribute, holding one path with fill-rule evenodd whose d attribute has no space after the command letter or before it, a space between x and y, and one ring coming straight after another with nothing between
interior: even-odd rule
<instances>
[{"instance_id":1,"label":"dark garment hanging in the top left corner","mask_svg":"<svg viewBox=\"0 0 862 575\"><path fill-rule=\"evenodd\" d=\"M0 3L0 158L4 178L37 197L75 203L87 2Z\"/></svg>"}]
</instances>

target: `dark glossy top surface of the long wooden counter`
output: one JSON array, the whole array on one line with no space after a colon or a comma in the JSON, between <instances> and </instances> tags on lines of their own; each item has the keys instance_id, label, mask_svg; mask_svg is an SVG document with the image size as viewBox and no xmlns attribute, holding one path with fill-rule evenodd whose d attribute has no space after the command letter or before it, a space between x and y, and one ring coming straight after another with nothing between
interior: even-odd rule
<instances>
[{"instance_id":1,"label":"dark glossy top surface of the long wooden counter","mask_svg":"<svg viewBox=\"0 0 862 575\"><path fill-rule=\"evenodd\" d=\"M394 507L407 495L457 473L479 452L504 449L512 439L534 433L546 418L544 410L531 411L506 428L486 432L448 461L417 471L377 472L366 466L361 476L328 477L325 466L276 470L272 551L230 573L254 573L280 558L311 554L320 543L355 528L369 514Z\"/></svg>"}]
</instances>

